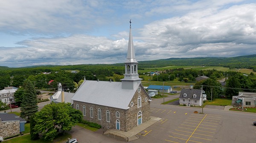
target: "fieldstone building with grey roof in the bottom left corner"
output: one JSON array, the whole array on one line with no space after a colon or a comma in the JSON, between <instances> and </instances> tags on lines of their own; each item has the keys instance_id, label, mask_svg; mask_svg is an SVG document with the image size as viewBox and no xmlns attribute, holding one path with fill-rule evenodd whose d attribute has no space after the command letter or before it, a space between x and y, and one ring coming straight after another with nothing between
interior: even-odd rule
<instances>
[{"instance_id":1,"label":"fieldstone building with grey roof in the bottom left corner","mask_svg":"<svg viewBox=\"0 0 256 143\"><path fill-rule=\"evenodd\" d=\"M0 113L0 137L10 137L25 131L25 123L21 117L12 113Z\"/></svg>"}]
</instances>

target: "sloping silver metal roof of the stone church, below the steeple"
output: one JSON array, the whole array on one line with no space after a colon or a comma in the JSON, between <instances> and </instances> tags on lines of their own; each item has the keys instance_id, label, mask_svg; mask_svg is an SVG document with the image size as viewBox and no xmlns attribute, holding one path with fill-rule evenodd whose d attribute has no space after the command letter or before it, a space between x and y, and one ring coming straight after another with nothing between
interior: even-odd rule
<instances>
[{"instance_id":1,"label":"sloping silver metal roof of the stone church, below the steeple","mask_svg":"<svg viewBox=\"0 0 256 143\"><path fill-rule=\"evenodd\" d=\"M137 83L135 87L139 86ZM136 91L137 88L122 89L121 82L85 80L71 100L128 109Z\"/></svg>"}]
</instances>

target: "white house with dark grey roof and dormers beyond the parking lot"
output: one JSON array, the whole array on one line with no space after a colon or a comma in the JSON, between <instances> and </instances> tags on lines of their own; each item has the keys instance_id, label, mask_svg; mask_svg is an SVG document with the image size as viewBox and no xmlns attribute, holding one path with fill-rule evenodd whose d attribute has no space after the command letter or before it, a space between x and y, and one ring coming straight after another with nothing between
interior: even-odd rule
<instances>
[{"instance_id":1,"label":"white house with dark grey roof and dormers beyond the parking lot","mask_svg":"<svg viewBox=\"0 0 256 143\"><path fill-rule=\"evenodd\" d=\"M180 105L199 107L202 105L202 100L206 100L206 94L203 95L201 89L181 89L180 91Z\"/></svg>"}]
</instances>

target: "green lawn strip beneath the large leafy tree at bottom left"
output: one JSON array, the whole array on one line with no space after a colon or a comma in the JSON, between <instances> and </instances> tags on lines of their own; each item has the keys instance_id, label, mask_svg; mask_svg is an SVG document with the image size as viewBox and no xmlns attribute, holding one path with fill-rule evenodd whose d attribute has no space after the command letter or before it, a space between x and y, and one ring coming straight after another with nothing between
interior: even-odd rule
<instances>
[{"instance_id":1,"label":"green lawn strip beneath the large leafy tree at bottom left","mask_svg":"<svg viewBox=\"0 0 256 143\"><path fill-rule=\"evenodd\" d=\"M56 137L52 142L39 140L30 140L30 134L26 134L20 137L15 137L10 140L3 141L3 143L62 143L67 140L67 138L72 138L70 134L65 133L64 135Z\"/></svg>"}]
</instances>

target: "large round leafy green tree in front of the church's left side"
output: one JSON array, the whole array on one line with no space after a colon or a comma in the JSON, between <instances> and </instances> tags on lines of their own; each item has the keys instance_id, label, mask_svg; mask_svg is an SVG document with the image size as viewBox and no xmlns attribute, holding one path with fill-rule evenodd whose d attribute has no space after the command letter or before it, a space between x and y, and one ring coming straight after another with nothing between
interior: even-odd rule
<instances>
[{"instance_id":1,"label":"large round leafy green tree in front of the church's left side","mask_svg":"<svg viewBox=\"0 0 256 143\"><path fill-rule=\"evenodd\" d=\"M37 112L34 119L35 132L43 134L45 140L52 141L59 129L69 131L81 121L82 113L73 109L70 103L50 103Z\"/></svg>"}]
</instances>

